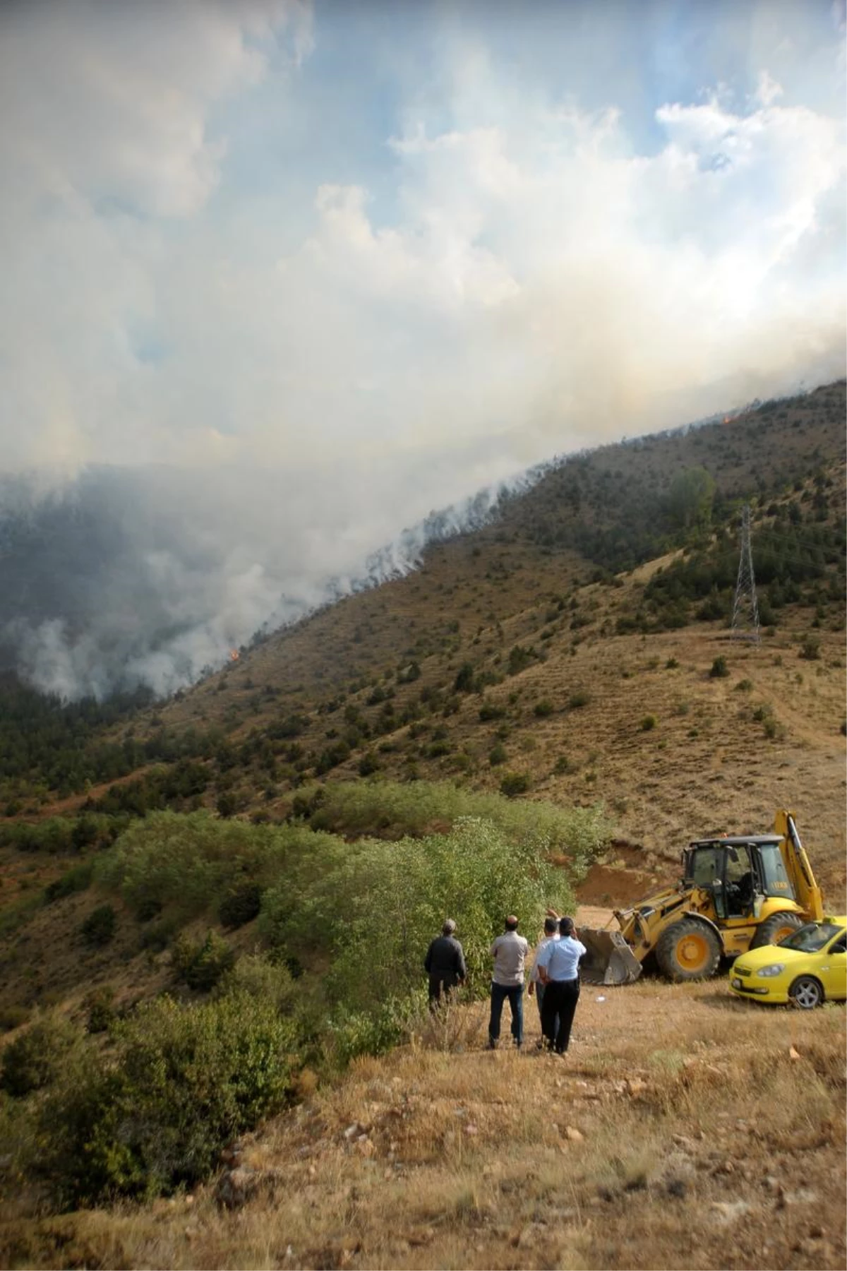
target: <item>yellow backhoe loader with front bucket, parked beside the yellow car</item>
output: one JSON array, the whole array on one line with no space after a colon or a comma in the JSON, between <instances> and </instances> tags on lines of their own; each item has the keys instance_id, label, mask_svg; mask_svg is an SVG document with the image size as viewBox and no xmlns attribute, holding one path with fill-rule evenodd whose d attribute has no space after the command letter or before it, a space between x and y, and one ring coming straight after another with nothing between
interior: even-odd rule
<instances>
[{"instance_id":1,"label":"yellow backhoe loader with front bucket, parked beside the yellow car","mask_svg":"<svg viewBox=\"0 0 847 1271\"><path fill-rule=\"evenodd\" d=\"M654 957L669 980L705 980L721 958L820 921L823 897L794 815L777 812L773 830L698 839L682 853L676 887L615 910L620 930L580 928L584 977L631 984Z\"/></svg>"}]
</instances>

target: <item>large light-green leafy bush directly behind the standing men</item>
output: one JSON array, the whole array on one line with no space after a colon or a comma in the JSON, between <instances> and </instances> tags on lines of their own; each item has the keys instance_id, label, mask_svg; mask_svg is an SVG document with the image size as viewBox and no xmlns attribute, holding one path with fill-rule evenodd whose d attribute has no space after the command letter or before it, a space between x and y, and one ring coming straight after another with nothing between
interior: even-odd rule
<instances>
[{"instance_id":1,"label":"large light-green leafy bush directly behind the standing men","mask_svg":"<svg viewBox=\"0 0 847 1271\"><path fill-rule=\"evenodd\" d=\"M580 833L593 840L599 825L604 822L594 810L574 834L578 859L589 852ZM597 850L599 843L593 841ZM260 932L277 956L306 961L329 953L324 984L330 1004L372 1013L420 988L427 947L450 913L458 923L471 982L485 986L488 951L504 913L521 914L531 927L547 905L571 901L568 878L549 863L549 844L544 835L512 838L476 817L423 839L359 839L345 844L331 866L312 867L296 888L291 878L269 888Z\"/></svg>"}]
</instances>

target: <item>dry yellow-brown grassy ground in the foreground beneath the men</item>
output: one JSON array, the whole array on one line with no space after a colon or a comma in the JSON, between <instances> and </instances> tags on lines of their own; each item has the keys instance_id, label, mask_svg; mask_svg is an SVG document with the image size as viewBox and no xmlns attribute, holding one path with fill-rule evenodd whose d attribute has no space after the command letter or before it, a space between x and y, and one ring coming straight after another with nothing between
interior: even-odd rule
<instances>
[{"instance_id":1,"label":"dry yellow-brown grassy ground in the foreground beneath the men","mask_svg":"<svg viewBox=\"0 0 847 1271\"><path fill-rule=\"evenodd\" d=\"M683 1249L692 1268L844 1265L843 1008L587 988L565 1060L532 1049L527 1008L524 1054L479 1049L476 1005L456 1012L465 1049L420 1038L354 1064L245 1144L260 1186L241 1209L210 1185L149 1209L8 1213L0 1253L56 1271L646 1271Z\"/></svg>"}]
</instances>

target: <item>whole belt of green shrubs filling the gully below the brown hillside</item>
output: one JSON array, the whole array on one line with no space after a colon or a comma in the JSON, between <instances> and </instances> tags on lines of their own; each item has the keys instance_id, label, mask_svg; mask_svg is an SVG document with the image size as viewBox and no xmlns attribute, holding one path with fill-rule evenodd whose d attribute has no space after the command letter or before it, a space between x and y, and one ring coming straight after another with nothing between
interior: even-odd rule
<instances>
[{"instance_id":1,"label":"whole belt of green shrubs filling the gully below the brown hillside","mask_svg":"<svg viewBox=\"0 0 847 1271\"><path fill-rule=\"evenodd\" d=\"M169 943L171 982L119 1009L89 995L86 1019L38 1017L6 1046L3 1134L52 1204L193 1185L229 1138L296 1097L306 1068L338 1070L409 1036L447 915L472 1000L504 914L532 935L549 905L573 905L571 878L608 838L599 807L448 785L357 783L310 799L312 825L152 812L84 863L102 900L85 942L123 929L126 947L130 925L138 947Z\"/></svg>"}]
</instances>

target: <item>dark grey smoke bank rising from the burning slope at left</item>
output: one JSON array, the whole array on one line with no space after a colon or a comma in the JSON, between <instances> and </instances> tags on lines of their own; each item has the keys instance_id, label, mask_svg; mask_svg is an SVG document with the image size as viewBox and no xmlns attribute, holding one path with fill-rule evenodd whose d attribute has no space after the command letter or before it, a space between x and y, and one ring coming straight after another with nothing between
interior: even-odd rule
<instances>
[{"instance_id":1,"label":"dark grey smoke bank rising from the burning slope at left","mask_svg":"<svg viewBox=\"0 0 847 1271\"><path fill-rule=\"evenodd\" d=\"M63 699L140 684L170 694L258 630L408 573L428 543L484 525L535 475L499 480L371 552L343 524L343 503L324 502L326 486L309 521L291 492L274 502L255 474L237 497L231 484L210 489L208 474L166 469L89 469L47 494L8 479L4 663Z\"/></svg>"}]
</instances>

